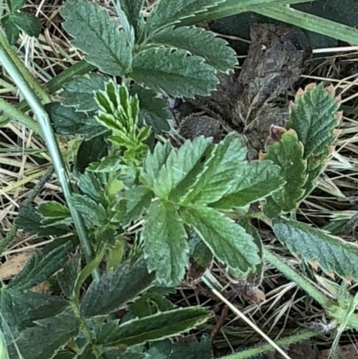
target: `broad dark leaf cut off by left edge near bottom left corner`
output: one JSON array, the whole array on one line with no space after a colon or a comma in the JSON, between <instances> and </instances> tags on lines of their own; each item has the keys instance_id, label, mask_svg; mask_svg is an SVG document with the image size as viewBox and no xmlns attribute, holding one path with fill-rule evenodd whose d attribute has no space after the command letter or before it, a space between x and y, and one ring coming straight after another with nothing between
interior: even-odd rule
<instances>
[{"instance_id":1,"label":"broad dark leaf cut off by left edge near bottom left corner","mask_svg":"<svg viewBox=\"0 0 358 359\"><path fill-rule=\"evenodd\" d=\"M0 312L5 323L3 320L0 321L0 328L4 332L6 341L12 341L21 329L32 326L33 321L52 317L64 311L68 305L67 301L55 296L31 291L24 293L16 288L2 290Z\"/></svg>"}]
</instances>

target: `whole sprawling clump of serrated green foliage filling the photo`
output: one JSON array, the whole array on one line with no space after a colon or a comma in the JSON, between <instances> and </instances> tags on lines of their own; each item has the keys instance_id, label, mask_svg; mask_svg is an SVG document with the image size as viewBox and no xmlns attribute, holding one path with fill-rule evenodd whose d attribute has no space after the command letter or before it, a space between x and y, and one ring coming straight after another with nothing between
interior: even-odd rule
<instances>
[{"instance_id":1,"label":"whole sprawling clump of serrated green foliage filling the photo","mask_svg":"<svg viewBox=\"0 0 358 359\"><path fill-rule=\"evenodd\" d=\"M236 64L223 39L181 26L218 3L161 0L144 21L140 0L117 0L121 30L97 3L64 4L64 30L101 73L74 77L60 94L62 103L46 106L56 133L80 139L72 168L77 182L66 205L45 201L20 210L17 224L25 231L56 239L1 287L1 330L9 357L200 353L210 358L206 337L192 345L168 339L209 319L204 308L176 308L166 299L183 280L195 246L207 263L215 257L234 278L260 274L263 261L270 261L317 300L339 329L358 328L354 298L337 293L335 301L321 294L268 252L251 225L251 218L263 219L294 255L327 274L358 278L353 244L293 218L337 138L340 105L331 87L311 85L297 93L286 128L271 129L260 160L246 159L243 137L236 133L217 144L198 137L179 148L160 136L170 129L171 114L158 91L208 95L217 72ZM121 84L108 76L121 77ZM260 211L252 212L257 201ZM81 255L71 206L84 219L95 252L89 262ZM129 234L135 234L134 241ZM57 295L31 291L45 280ZM124 308L125 315L115 318Z\"/></svg>"}]
</instances>

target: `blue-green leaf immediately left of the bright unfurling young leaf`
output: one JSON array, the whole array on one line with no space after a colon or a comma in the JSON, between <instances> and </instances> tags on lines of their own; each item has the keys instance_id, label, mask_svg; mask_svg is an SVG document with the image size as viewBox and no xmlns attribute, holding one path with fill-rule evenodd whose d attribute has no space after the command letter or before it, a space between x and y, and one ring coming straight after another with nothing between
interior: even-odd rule
<instances>
[{"instance_id":1,"label":"blue-green leaf immediately left of the bright unfurling young leaf","mask_svg":"<svg viewBox=\"0 0 358 359\"><path fill-rule=\"evenodd\" d=\"M61 97L64 98L63 105L75 107L77 111L98 111L95 100L95 91L105 90L107 76L90 73L88 76L78 76L64 85Z\"/></svg>"}]
</instances>

